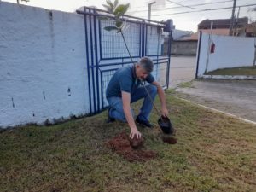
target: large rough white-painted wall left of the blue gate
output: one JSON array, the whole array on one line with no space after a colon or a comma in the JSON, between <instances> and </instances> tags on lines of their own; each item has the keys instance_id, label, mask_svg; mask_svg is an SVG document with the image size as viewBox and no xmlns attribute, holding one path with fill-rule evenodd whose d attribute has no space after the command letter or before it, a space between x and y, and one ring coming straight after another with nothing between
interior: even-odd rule
<instances>
[{"instance_id":1,"label":"large rough white-painted wall left of the blue gate","mask_svg":"<svg viewBox=\"0 0 256 192\"><path fill-rule=\"evenodd\" d=\"M83 15L0 3L0 127L89 113L84 47Z\"/></svg>"}]
</instances>

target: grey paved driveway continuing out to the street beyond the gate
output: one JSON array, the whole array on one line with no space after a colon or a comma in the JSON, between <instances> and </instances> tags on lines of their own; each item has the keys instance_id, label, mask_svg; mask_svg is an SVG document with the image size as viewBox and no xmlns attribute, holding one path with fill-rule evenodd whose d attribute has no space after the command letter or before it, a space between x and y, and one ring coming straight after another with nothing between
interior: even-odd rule
<instances>
[{"instance_id":1,"label":"grey paved driveway continuing out to the street beyond the gate","mask_svg":"<svg viewBox=\"0 0 256 192\"><path fill-rule=\"evenodd\" d=\"M172 56L170 88L194 79L195 69L195 56ZM177 92L192 102L256 121L255 80L195 80Z\"/></svg>"}]
</instances>

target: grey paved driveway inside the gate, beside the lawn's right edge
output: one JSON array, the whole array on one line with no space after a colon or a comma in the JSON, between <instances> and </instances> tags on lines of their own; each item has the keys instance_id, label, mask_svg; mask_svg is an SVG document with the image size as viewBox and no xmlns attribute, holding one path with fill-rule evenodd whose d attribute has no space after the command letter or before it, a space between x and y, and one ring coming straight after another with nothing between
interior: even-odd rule
<instances>
[{"instance_id":1,"label":"grey paved driveway inside the gate, beside the lawn's right edge","mask_svg":"<svg viewBox=\"0 0 256 192\"><path fill-rule=\"evenodd\" d=\"M178 96L189 101L256 121L255 80L195 80L177 87Z\"/></svg>"}]
</instances>

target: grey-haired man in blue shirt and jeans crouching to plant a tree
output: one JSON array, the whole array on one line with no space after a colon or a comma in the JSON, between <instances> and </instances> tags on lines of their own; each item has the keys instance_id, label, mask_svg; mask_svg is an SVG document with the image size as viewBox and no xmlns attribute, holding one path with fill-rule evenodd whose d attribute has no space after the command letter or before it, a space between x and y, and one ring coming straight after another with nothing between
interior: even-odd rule
<instances>
[{"instance_id":1,"label":"grey-haired man in blue shirt and jeans crouching to plant a tree","mask_svg":"<svg viewBox=\"0 0 256 192\"><path fill-rule=\"evenodd\" d=\"M161 102L161 113L163 116L168 115L165 92L161 85L154 80L151 74L153 68L153 61L148 57L143 57L134 65L119 68L113 74L107 87L106 96L109 103L108 122L113 122L115 119L127 122L131 129L131 138L141 137L135 121L140 125L152 127L148 120L153 108L150 97L154 101L154 97L158 94ZM144 86L144 81L147 81L148 85ZM131 103L143 98L143 106L136 120L134 120Z\"/></svg>"}]
</instances>

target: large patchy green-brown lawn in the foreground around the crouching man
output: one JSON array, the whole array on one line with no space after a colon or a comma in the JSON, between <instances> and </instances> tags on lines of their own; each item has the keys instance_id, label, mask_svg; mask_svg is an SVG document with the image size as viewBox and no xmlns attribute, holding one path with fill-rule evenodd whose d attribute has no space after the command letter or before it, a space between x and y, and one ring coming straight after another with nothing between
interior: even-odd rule
<instances>
[{"instance_id":1,"label":"large patchy green-brown lawn in the foreground around the crouching man","mask_svg":"<svg viewBox=\"0 0 256 192\"><path fill-rule=\"evenodd\" d=\"M105 146L122 131L107 112L0 133L0 191L255 191L256 126L167 96L177 144L143 129L154 160L129 162ZM138 106L139 103L136 104Z\"/></svg>"}]
</instances>

